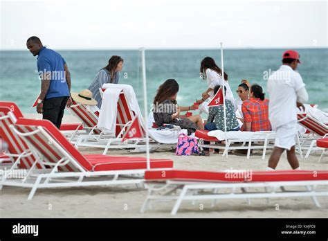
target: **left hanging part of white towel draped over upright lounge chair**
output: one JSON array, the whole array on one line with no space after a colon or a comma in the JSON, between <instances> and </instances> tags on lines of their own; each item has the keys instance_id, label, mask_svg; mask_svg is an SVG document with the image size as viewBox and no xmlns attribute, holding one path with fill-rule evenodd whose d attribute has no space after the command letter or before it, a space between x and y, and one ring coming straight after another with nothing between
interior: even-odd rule
<instances>
[{"instance_id":1,"label":"left hanging part of white towel draped over upright lounge chair","mask_svg":"<svg viewBox=\"0 0 328 241\"><path fill-rule=\"evenodd\" d=\"M104 128L105 132L115 133L120 91L122 91L120 88L109 88L102 96L98 127Z\"/></svg>"}]
</instances>

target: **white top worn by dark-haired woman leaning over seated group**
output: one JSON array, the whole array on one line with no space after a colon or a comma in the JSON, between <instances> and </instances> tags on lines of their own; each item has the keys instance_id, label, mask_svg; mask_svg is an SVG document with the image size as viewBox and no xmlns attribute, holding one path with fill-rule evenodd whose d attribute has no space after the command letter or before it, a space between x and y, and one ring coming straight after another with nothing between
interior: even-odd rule
<instances>
[{"instance_id":1,"label":"white top worn by dark-haired woman leaning over seated group","mask_svg":"<svg viewBox=\"0 0 328 241\"><path fill-rule=\"evenodd\" d=\"M225 80L222 80L221 75L217 73L216 71L213 71L212 69L206 69L206 79L208 80L208 88L214 89L217 85L225 85L226 86L226 98L227 100L230 100L233 102L233 105L235 107L235 111L237 110L237 104L235 102L235 99L233 98L233 91L231 91L229 82ZM214 91L208 92L210 95L210 98L213 98Z\"/></svg>"}]
</instances>

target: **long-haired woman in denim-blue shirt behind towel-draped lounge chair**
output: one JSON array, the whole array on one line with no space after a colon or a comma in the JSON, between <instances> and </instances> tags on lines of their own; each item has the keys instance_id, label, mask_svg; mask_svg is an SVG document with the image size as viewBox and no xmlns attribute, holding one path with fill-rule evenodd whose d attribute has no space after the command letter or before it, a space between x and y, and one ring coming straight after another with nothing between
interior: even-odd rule
<instances>
[{"instance_id":1,"label":"long-haired woman in denim-blue shirt behind towel-draped lounge chair","mask_svg":"<svg viewBox=\"0 0 328 241\"><path fill-rule=\"evenodd\" d=\"M95 79L89 85L88 89L93 93L93 98L97 100L97 106L100 108L102 104L102 98L100 96L99 88L102 84L117 84L120 78L119 71L123 68L123 59L120 56L113 55L108 61L107 66L100 69Z\"/></svg>"}]
</instances>

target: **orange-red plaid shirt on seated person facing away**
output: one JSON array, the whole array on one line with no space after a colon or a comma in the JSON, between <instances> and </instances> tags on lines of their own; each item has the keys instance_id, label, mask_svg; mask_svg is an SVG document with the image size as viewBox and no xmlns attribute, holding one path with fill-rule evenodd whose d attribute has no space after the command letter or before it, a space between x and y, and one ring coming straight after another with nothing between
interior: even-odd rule
<instances>
[{"instance_id":1,"label":"orange-red plaid shirt on seated person facing away","mask_svg":"<svg viewBox=\"0 0 328 241\"><path fill-rule=\"evenodd\" d=\"M250 122L250 131L269 131L271 123L268 120L268 100L259 98L250 98L244 100L242 104L244 123Z\"/></svg>"}]
</instances>

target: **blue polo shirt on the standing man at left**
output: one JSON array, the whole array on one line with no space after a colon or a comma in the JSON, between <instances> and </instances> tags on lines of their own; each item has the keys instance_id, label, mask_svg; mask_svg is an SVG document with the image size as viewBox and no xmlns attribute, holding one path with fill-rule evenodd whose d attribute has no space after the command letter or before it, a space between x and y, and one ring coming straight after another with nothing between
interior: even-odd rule
<instances>
[{"instance_id":1,"label":"blue polo shirt on the standing man at left","mask_svg":"<svg viewBox=\"0 0 328 241\"><path fill-rule=\"evenodd\" d=\"M69 96L69 87L64 72L65 60L59 53L42 47L37 57L37 71L42 75L51 75L46 99Z\"/></svg>"}]
</instances>

